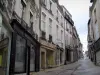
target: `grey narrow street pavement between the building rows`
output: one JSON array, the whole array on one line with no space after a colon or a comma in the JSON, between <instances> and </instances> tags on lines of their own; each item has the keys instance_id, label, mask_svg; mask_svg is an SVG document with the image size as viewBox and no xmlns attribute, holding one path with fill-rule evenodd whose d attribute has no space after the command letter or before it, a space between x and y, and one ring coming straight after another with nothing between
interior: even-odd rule
<instances>
[{"instance_id":1,"label":"grey narrow street pavement between the building rows","mask_svg":"<svg viewBox=\"0 0 100 75\"><path fill-rule=\"evenodd\" d=\"M38 72L36 75L100 75L100 67L86 58L56 69Z\"/></svg>"}]
</instances>

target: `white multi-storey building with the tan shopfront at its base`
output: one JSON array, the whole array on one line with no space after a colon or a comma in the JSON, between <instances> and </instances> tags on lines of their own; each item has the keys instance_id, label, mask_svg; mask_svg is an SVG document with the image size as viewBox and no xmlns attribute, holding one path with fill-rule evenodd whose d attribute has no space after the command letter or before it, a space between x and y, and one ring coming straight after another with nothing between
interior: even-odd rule
<instances>
[{"instance_id":1,"label":"white multi-storey building with the tan shopfront at its base","mask_svg":"<svg viewBox=\"0 0 100 75\"><path fill-rule=\"evenodd\" d=\"M55 7L55 8L54 8ZM40 67L64 63L64 17L57 0L41 1Z\"/></svg>"}]
</instances>

